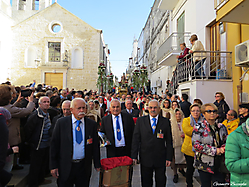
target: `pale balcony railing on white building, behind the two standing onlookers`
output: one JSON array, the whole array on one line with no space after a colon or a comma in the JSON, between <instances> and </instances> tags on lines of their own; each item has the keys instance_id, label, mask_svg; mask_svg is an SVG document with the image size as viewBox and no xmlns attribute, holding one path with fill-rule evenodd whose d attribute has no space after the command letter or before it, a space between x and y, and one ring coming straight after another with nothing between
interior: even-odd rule
<instances>
[{"instance_id":1,"label":"pale balcony railing on white building, behind the two standing onlookers","mask_svg":"<svg viewBox=\"0 0 249 187\"><path fill-rule=\"evenodd\" d=\"M159 64L160 62L162 62L162 60L165 57L169 56L170 54L179 55L179 53L181 52L181 48L180 48L181 43L185 43L187 47L190 47L190 42L189 42L190 36L191 36L190 32L172 33L165 40L165 42L159 47L157 51L157 61L159 62Z\"/></svg>"}]
</instances>

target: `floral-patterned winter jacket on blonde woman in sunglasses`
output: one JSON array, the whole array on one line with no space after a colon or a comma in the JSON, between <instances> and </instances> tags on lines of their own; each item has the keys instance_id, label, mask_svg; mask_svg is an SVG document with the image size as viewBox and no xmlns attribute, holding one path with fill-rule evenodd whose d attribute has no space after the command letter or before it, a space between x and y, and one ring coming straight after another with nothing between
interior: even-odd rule
<instances>
[{"instance_id":1,"label":"floral-patterned winter jacket on blonde woman in sunglasses","mask_svg":"<svg viewBox=\"0 0 249 187\"><path fill-rule=\"evenodd\" d=\"M212 174L220 166L220 161L215 162L218 160L217 148L224 147L227 138L227 129L223 124L217 124L216 128L219 140L214 138L211 126L205 119L201 123L195 124L192 136L192 144L196 151L194 167Z\"/></svg>"}]
</instances>

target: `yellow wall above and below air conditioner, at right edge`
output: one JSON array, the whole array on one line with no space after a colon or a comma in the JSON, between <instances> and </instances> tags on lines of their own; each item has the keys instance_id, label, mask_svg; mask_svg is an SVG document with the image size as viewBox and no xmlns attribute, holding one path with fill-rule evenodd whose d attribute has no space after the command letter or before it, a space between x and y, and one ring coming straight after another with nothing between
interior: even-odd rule
<instances>
[{"instance_id":1,"label":"yellow wall above and below air conditioner, at right edge","mask_svg":"<svg viewBox=\"0 0 249 187\"><path fill-rule=\"evenodd\" d=\"M249 25L243 24L241 25L241 42L245 42L247 40L249 40ZM249 73L247 73L244 78L242 89L243 92L246 92L249 95Z\"/></svg>"}]
</instances>

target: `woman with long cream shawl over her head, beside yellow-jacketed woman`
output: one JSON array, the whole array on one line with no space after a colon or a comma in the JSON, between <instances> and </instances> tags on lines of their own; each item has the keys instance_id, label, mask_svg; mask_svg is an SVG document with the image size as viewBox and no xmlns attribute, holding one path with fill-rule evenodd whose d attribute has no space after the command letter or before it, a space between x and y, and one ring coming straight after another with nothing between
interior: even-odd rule
<instances>
[{"instance_id":1,"label":"woman with long cream shawl over her head, beside yellow-jacketed woman","mask_svg":"<svg viewBox=\"0 0 249 187\"><path fill-rule=\"evenodd\" d=\"M185 176L185 158L183 153L181 152L181 146L184 140L184 133L182 131L182 120L184 118L184 114L181 109L176 108L171 117L171 130L172 130L172 138L173 138L173 160L172 160L172 169L174 171L173 182L178 182L178 174L177 168L179 168L179 172Z\"/></svg>"}]
</instances>

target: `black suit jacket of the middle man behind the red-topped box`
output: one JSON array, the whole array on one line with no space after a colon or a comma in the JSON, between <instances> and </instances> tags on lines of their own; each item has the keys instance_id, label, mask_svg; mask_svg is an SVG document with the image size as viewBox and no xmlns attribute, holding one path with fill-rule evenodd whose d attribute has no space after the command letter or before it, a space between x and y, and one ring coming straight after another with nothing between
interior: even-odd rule
<instances>
[{"instance_id":1,"label":"black suit jacket of the middle man behind the red-topped box","mask_svg":"<svg viewBox=\"0 0 249 187\"><path fill-rule=\"evenodd\" d=\"M124 138L125 138L125 147L126 147L126 156L131 156L131 143L132 135L134 130L134 121L130 114L121 113ZM107 146L107 157L116 157L115 155L115 137L113 129L112 114L103 117L101 123L101 132L106 134L107 139L110 141L111 145Z\"/></svg>"}]
</instances>

